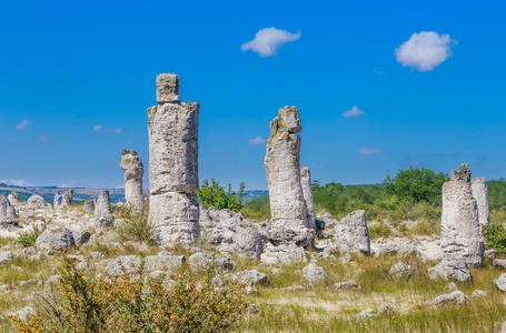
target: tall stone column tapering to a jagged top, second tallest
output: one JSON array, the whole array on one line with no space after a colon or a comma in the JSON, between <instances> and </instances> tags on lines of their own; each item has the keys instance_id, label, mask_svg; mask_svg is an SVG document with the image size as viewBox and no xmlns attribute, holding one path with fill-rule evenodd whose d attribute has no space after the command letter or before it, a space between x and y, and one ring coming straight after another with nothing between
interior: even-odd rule
<instances>
[{"instance_id":1,"label":"tall stone column tapering to a jagged top, second tallest","mask_svg":"<svg viewBox=\"0 0 506 333\"><path fill-rule=\"evenodd\" d=\"M265 168L269 183L271 230L275 244L312 243L315 231L308 220L308 210L300 183L300 137L302 130L296 107L285 107L270 122Z\"/></svg>"}]
</instances>

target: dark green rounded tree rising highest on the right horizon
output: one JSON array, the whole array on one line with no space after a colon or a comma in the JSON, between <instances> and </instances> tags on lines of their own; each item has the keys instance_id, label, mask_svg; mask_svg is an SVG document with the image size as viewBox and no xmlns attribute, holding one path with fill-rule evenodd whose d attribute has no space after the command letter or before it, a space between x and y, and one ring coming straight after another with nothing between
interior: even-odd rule
<instances>
[{"instance_id":1,"label":"dark green rounded tree rising highest on the right horizon","mask_svg":"<svg viewBox=\"0 0 506 333\"><path fill-rule=\"evenodd\" d=\"M436 173L425 168L409 168L399 170L394 178L387 174L383 184L386 195L440 205L443 183L448 180L448 174L444 172Z\"/></svg>"}]
</instances>

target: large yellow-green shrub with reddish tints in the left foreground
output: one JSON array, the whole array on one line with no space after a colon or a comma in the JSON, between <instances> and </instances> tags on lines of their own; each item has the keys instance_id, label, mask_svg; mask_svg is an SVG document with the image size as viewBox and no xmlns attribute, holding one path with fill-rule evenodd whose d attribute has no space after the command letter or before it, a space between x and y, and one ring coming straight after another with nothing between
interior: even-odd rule
<instances>
[{"instance_id":1,"label":"large yellow-green shrub with reddish tints in the left foreground","mask_svg":"<svg viewBox=\"0 0 506 333\"><path fill-rule=\"evenodd\" d=\"M126 268L123 268L126 269ZM63 260L59 283L36 304L27 323L11 317L20 332L229 332L249 306L242 285L211 285L180 273L173 286L147 279L143 264L135 276L86 275Z\"/></svg>"}]
</instances>

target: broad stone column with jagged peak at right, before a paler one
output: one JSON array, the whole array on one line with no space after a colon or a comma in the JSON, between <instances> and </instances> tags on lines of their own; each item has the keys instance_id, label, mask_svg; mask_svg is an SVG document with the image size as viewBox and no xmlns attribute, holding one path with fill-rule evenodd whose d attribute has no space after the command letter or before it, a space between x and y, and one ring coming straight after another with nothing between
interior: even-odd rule
<instances>
[{"instance_id":1,"label":"broad stone column with jagged peak at right, before a paler one","mask_svg":"<svg viewBox=\"0 0 506 333\"><path fill-rule=\"evenodd\" d=\"M441 250L443 260L483 266L484 236L466 163L452 170L450 181L443 184Z\"/></svg>"}]
</instances>

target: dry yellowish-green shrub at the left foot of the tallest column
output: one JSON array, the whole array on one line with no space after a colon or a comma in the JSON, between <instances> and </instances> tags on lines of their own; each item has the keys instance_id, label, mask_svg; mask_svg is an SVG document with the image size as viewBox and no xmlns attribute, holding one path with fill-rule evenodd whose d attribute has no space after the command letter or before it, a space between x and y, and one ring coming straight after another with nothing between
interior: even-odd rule
<instances>
[{"instance_id":1,"label":"dry yellowish-green shrub at the left foot of the tallest column","mask_svg":"<svg viewBox=\"0 0 506 333\"><path fill-rule=\"evenodd\" d=\"M148 209L136 210L130 205L123 205L119 209L120 218L123 221L118 222L118 234L126 241L147 242L151 239L151 224L148 221Z\"/></svg>"}]
</instances>

